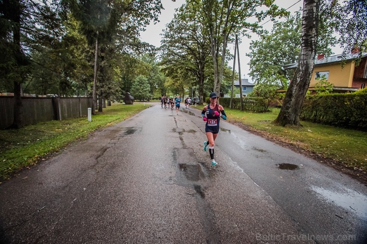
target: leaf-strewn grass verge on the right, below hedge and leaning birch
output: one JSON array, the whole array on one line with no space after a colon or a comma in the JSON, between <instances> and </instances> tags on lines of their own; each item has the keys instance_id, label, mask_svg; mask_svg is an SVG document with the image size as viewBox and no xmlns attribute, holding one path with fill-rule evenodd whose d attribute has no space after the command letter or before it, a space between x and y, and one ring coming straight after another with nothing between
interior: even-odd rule
<instances>
[{"instance_id":1,"label":"leaf-strewn grass verge on the right, below hedge and leaning birch","mask_svg":"<svg viewBox=\"0 0 367 244\"><path fill-rule=\"evenodd\" d=\"M202 107L197 106L198 109ZM278 126L273 121L279 110L272 108L271 112L253 113L225 108L228 122L241 123L267 138L332 158L347 167L358 168L367 173L367 132L306 121L301 121L303 126L300 128Z\"/></svg>"}]
</instances>

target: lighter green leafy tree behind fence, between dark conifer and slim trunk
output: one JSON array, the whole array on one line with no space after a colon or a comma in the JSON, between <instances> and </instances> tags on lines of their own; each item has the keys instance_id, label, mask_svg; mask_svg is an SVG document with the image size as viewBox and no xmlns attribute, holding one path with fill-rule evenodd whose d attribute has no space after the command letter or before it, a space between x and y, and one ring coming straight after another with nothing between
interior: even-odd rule
<instances>
[{"instance_id":1,"label":"lighter green leafy tree behind fence, between dark conifer and slim trunk","mask_svg":"<svg viewBox=\"0 0 367 244\"><path fill-rule=\"evenodd\" d=\"M77 29L78 22L70 18L63 22L60 38L54 38L52 42L49 38L33 40L30 50L32 66L24 92L59 97L72 96L75 90L87 93L86 81L89 79L85 77L93 72L88 62L91 50ZM43 26L37 31L47 33Z\"/></svg>"}]
</instances>

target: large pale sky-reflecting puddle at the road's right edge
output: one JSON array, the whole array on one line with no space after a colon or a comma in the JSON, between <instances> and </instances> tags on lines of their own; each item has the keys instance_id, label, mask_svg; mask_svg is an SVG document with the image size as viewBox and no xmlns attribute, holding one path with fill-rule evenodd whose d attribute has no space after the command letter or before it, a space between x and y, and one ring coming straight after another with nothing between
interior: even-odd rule
<instances>
[{"instance_id":1,"label":"large pale sky-reflecting puddle at the road's right edge","mask_svg":"<svg viewBox=\"0 0 367 244\"><path fill-rule=\"evenodd\" d=\"M367 196L357 191L346 189L345 193L333 192L322 187L312 186L311 189L328 201L345 208L349 213L367 219Z\"/></svg>"}]
</instances>

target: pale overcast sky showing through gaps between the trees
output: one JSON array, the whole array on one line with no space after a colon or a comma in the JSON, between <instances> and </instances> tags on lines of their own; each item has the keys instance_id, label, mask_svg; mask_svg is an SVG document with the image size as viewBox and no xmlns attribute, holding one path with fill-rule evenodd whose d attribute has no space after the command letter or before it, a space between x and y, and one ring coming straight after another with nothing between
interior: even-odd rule
<instances>
[{"instance_id":1,"label":"pale overcast sky showing through gaps between the trees","mask_svg":"<svg viewBox=\"0 0 367 244\"><path fill-rule=\"evenodd\" d=\"M140 33L141 41L147 42L151 45L154 45L156 47L161 46L161 38L160 34L162 33L162 30L165 29L165 25L168 24L172 18L174 17L175 9L179 8L185 0L176 0L175 2L172 0L162 0L163 9L161 11L161 15L159 17L159 23L153 25L152 23L147 26L146 31ZM300 9L300 7L303 7L303 0L275 0L275 4L277 4L279 7L283 7L285 9L288 9L292 14ZM268 19L261 22L263 24L263 27L265 29L268 29L269 31L272 28L272 22L267 22ZM251 40L256 40L257 35L252 34L252 38L248 39L246 37L242 38L242 43L239 45L239 51L240 51L240 62L241 62L241 75L242 78L249 79L249 82L251 81L251 77L249 77L249 66L248 66L248 57L246 56L246 53L250 52L249 44ZM232 54L234 53L235 49L233 45L229 45L229 49L231 50ZM340 47L332 48L333 52L335 54L339 54L342 52L342 49ZM229 65L232 67L233 60L229 61ZM236 61L236 71L238 72L238 63Z\"/></svg>"}]
</instances>

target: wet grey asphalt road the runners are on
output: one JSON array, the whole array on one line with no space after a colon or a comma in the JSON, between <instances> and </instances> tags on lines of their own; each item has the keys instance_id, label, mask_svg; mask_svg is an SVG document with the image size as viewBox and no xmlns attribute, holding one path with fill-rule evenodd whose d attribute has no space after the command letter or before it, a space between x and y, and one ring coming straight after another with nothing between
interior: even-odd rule
<instances>
[{"instance_id":1,"label":"wet grey asphalt road the runners are on","mask_svg":"<svg viewBox=\"0 0 367 244\"><path fill-rule=\"evenodd\" d=\"M367 243L366 186L223 120L213 168L205 139L158 103L93 133L0 184L0 243Z\"/></svg>"}]
</instances>

